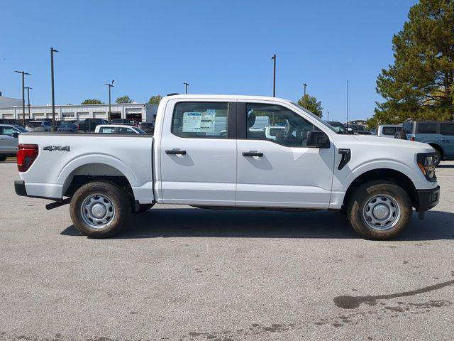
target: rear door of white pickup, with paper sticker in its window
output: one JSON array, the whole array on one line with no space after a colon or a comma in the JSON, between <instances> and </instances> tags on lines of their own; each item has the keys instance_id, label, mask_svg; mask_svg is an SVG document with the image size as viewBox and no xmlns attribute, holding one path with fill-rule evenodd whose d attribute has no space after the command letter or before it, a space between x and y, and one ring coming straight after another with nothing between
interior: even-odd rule
<instances>
[{"instance_id":1,"label":"rear door of white pickup, with paper sticker in its window","mask_svg":"<svg viewBox=\"0 0 454 341\"><path fill-rule=\"evenodd\" d=\"M163 203L235 205L236 102L167 102L158 149Z\"/></svg>"}]
</instances>

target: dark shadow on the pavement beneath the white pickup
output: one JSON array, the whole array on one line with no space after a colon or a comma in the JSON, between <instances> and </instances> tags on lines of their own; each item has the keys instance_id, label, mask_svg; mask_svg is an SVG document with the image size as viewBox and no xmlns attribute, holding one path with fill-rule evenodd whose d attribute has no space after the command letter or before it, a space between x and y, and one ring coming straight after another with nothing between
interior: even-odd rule
<instances>
[{"instance_id":1,"label":"dark shadow on the pavement beneath the white pickup","mask_svg":"<svg viewBox=\"0 0 454 341\"><path fill-rule=\"evenodd\" d=\"M396 241L454 239L454 213L429 211L419 220L414 212L411 225ZM79 236L71 225L62 235ZM154 208L131 216L124 232L115 239L158 237L228 238L341 238L360 239L339 212L273 212Z\"/></svg>"}]
</instances>

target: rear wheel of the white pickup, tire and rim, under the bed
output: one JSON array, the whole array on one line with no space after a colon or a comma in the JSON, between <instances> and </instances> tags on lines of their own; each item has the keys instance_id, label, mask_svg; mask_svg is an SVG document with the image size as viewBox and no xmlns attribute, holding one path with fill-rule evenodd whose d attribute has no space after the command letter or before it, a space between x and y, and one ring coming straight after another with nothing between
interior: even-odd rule
<instances>
[{"instance_id":1,"label":"rear wheel of the white pickup, tire and rim, under the bed","mask_svg":"<svg viewBox=\"0 0 454 341\"><path fill-rule=\"evenodd\" d=\"M93 202L99 202L99 206L96 208L101 210L101 215L104 212L103 210L106 211L102 218L109 219L100 224L100 227L94 226L99 222L87 217L90 215L89 212L94 212L93 208L92 210L84 208L84 213L82 213L82 206L89 207L92 200ZM90 207L94 207L94 204L91 205ZM102 205L104 205L104 208L102 208ZM106 181L93 181L83 185L74 193L70 203L70 215L74 226L82 234L91 238L114 236L123 229L130 214L131 204L128 194L115 183ZM111 218L109 218L109 215L111 215Z\"/></svg>"}]
</instances>

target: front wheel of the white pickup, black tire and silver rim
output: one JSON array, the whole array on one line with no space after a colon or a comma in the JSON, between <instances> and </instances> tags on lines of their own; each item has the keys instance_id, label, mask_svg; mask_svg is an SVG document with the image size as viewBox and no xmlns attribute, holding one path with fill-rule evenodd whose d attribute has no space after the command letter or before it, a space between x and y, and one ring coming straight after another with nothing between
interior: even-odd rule
<instances>
[{"instance_id":1,"label":"front wheel of the white pickup, black tire and silver rim","mask_svg":"<svg viewBox=\"0 0 454 341\"><path fill-rule=\"evenodd\" d=\"M374 202L374 200L376 201ZM384 208L384 215L387 215L387 217L377 222L376 227L371 226L374 222L370 220L370 217L376 218L375 210L370 208L371 205L375 205L373 207L381 205L381 207L377 207L380 209L387 207ZM392 210L394 210L394 213ZM365 239L389 240L396 238L411 221L412 213L411 200L405 190L394 183L383 180L369 181L361 185L351 195L347 204L350 224ZM368 216L366 217L366 215ZM366 220L370 220L370 222ZM388 222L389 226L387 225ZM383 225L380 226L380 224Z\"/></svg>"}]
</instances>

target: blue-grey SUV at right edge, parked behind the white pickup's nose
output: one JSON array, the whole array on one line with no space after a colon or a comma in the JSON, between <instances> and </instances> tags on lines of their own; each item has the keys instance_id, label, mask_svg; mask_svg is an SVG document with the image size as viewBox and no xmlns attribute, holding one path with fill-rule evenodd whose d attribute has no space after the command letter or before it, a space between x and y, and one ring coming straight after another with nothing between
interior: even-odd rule
<instances>
[{"instance_id":1,"label":"blue-grey SUV at right edge, parked behind the white pickup's nose","mask_svg":"<svg viewBox=\"0 0 454 341\"><path fill-rule=\"evenodd\" d=\"M402 136L410 141L430 144L440 161L454 160L454 121L409 121L402 124Z\"/></svg>"}]
</instances>

